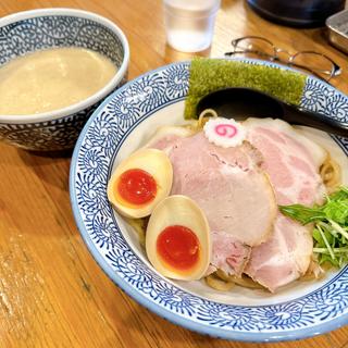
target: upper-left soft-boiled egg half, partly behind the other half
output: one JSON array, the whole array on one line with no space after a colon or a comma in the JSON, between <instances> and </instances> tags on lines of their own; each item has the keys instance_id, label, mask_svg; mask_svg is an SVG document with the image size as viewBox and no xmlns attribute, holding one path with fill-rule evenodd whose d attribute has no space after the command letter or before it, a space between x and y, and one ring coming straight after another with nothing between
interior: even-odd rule
<instances>
[{"instance_id":1,"label":"upper-left soft-boiled egg half, partly behind the other half","mask_svg":"<svg viewBox=\"0 0 348 348\"><path fill-rule=\"evenodd\" d=\"M173 167L165 152L140 149L120 163L108 184L108 198L124 216L144 217L169 196Z\"/></svg>"}]
</instances>

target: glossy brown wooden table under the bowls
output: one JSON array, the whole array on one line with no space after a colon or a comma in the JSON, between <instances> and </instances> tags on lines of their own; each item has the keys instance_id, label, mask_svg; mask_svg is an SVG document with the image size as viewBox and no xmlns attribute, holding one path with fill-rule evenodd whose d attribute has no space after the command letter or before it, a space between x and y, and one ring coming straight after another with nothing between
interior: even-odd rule
<instances>
[{"instance_id":1,"label":"glossy brown wooden table under the bowls","mask_svg":"<svg viewBox=\"0 0 348 348\"><path fill-rule=\"evenodd\" d=\"M129 78L190 58L165 45L160 0L2 0L0 15L72 7L114 21L130 45ZM344 69L333 84L348 92L347 57L323 29L265 22L241 0L223 0L211 51L232 38L262 35L289 51L318 50ZM0 145L0 347L260 347L209 338L152 314L99 269L76 228L69 198L71 153L41 156ZM269 347L348 348L348 327Z\"/></svg>"}]
</instances>

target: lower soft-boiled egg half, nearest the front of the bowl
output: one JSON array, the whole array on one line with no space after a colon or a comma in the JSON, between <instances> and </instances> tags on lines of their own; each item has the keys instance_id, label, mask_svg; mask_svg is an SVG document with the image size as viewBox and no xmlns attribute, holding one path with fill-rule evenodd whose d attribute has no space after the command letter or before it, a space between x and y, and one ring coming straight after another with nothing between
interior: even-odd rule
<instances>
[{"instance_id":1,"label":"lower soft-boiled egg half, nearest the front of the bowl","mask_svg":"<svg viewBox=\"0 0 348 348\"><path fill-rule=\"evenodd\" d=\"M210 228L192 199L170 196L156 207L146 231L146 252L166 277L195 281L206 274L211 259Z\"/></svg>"}]
</instances>

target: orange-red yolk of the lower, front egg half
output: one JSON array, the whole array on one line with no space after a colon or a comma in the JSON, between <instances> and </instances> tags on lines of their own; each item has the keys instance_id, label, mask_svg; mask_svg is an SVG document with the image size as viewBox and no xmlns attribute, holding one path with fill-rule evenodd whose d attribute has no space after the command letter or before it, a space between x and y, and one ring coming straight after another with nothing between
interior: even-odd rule
<instances>
[{"instance_id":1,"label":"orange-red yolk of the lower, front egg half","mask_svg":"<svg viewBox=\"0 0 348 348\"><path fill-rule=\"evenodd\" d=\"M170 266L187 271L199 260L199 240L188 227L173 225L165 227L157 239L157 252Z\"/></svg>"}]
</instances>

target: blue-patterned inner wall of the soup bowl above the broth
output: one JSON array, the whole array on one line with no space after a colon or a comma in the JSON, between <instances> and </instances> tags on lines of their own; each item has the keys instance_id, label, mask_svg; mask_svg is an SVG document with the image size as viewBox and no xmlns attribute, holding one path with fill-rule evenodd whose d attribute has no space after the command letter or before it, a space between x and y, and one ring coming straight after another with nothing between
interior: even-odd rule
<instances>
[{"instance_id":1,"label":"blue-patterned inner wall of the soup bowl above the broth","mask_svg":"<svg viewBox=\"0 0 348 348\"><path fill-rule=\"evenodd\" d=\"M42 15L0 27L0 64L28 52L52 47L82 47L121 65L122 42L108 27L74 15Z\"/></svg>"}]
</instances>

